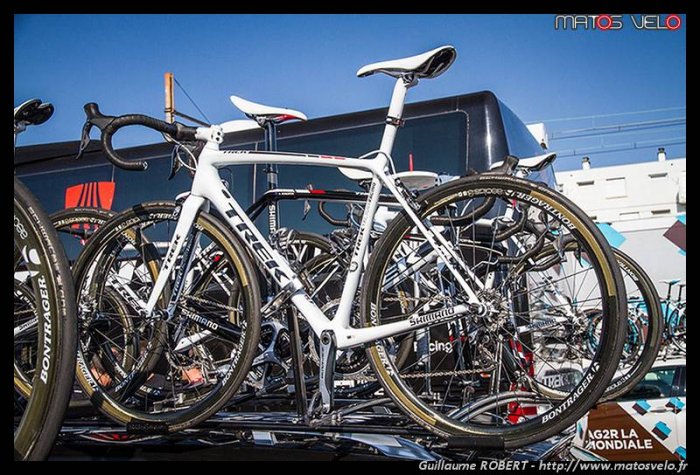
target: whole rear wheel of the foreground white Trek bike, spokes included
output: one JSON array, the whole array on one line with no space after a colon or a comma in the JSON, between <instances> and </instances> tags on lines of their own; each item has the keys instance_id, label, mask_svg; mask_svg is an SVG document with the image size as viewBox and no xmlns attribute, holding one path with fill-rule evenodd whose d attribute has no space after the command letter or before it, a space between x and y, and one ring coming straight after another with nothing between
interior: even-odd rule
<instances>
[{"instance_id":1,"label":"whole rear wheel of the foreground white Trek bike, spokes included","mask_svg":"<svg viewBox=\"0 0 700 475\"><path fill-rule=\"evenodd\" d=\"M454 314L473 299L406 212L395 218L364 274L362 319L420 329L368 349L384 390L433 433L474 446L519 447L566 429L603 394L622 353L624 286L604 237L565 197L512 177L463 178L418 203L481 307ZM600 338L589 356L580 338L593 308ZM399 357L407 340L412 354Z\"/></svg>"}]
</instances>

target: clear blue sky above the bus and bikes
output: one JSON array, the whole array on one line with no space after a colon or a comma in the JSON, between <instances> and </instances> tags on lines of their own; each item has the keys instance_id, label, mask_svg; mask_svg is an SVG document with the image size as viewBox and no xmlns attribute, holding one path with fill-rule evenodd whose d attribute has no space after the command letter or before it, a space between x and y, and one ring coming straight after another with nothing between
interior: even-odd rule
<instances>
[{"instance_id":1,"label":"clear blue sky above the bus and bikes","mask_svg":"<svg viewBox=\"0 0 700 475\"><path fill-rule=\"evenodd\" d=\"M300 109L310 118L386 107L391 81L358 79L357 69L441 44L457 48L457 61L413 88L409 102L489 89L526 122L669 108L595 125L685 117L678 109L686 102L685 25L637 31L624 20L622 30L603 32L555 31L552 15L18 15L14 102L40 97L56 106L54 118L20 143L77 140L82 105L90 101L108 114L161 117L166 71L214 122L241 117L231 94ZM181 91L176 97L179 110L196 113ZM678 137L685 137L684 125L604 140L663 145ZM133 145L160 136L134 131L118 139ZM561 141L555 148L600 141ZM685 156L685 144L667 150L670 158ZM600 162L653 158L654 149L644 149L601 154ZM573 166L573 157L557 163L558 169Z\"/></svg>"}]
</instances>

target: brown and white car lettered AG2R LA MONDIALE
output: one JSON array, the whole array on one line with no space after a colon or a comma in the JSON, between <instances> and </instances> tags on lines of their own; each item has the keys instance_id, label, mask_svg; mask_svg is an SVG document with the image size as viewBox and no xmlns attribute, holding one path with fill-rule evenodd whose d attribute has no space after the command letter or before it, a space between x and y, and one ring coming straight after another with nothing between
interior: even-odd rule
<instances>
[{"instance_id":1,"label":"brown and white car lettered AG2R LA MONDIALE","mask_svg":"<svg viewBox=\"0 0 700 475\"><path fill-rule=\"evenodd\" d=\"M657 361L642 381L576 424L574 444L613 461L685 460L685 359Z\"/></svg>"}]
</instances>

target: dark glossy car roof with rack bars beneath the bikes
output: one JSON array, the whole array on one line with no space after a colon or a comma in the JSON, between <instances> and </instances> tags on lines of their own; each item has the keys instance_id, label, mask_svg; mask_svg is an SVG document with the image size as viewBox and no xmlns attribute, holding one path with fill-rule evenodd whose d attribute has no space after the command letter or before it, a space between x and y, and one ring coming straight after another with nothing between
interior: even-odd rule
<instances>
[{"instance_id":1,"label":"dark glossy car roof with rack bars beneath the bikes","mask_svg":"<svg viewBox=\"0 0 700 475\"><path fill-rule=\"evenodd\" d=\"M104 418L67 420L58 445L81 453L109 456L118 446L128 446L125 457L136 448L144 453L166 448L175 452L206 447L222 450L286 449L288 451L322 449L316 453L332 452L334 457L347 454L413 461L474 461L474 460L540 460L566 450L574 430L571 428L546 441L516 450L460 449L436 438L433 434L410 423L385 404L357 404L357 411L343 416L342 423L318 424L313 427L300 423L293 411L220 412L200 424L174 434L138 434L116 426ZM372 409L371 412L368 409ZM226 457L232 452L218 452L214 457ZM104 455L103 455L104 454Z\"/></svg>"}]
</instances>

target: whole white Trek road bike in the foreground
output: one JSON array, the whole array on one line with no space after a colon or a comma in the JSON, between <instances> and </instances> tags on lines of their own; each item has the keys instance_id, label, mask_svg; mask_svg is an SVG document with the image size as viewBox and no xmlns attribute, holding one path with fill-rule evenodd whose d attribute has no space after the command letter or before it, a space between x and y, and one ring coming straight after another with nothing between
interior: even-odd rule
<instances>
[{"instance_id":1,"label":"whole white Trek road bike in the foreground","mask_svg":"<svg viewBox=\"0 0 700 475\"><path fill-rule=\"evenodd\" d=\"M445 72L455 57L453 47L443 46L358 71L360 77L384 73L396 78L379 149L359 158L221 150L224 134L248 128L243 122L250 121L193 128L143 115L105 116L96 104L85 106L84 138L97 126L104 152L115 165L146 168L145 162L120 157L111 144L117 130L142 125L189 144L194 172L190 193L181 205L143 203L121 213L93 236L76 264L83 334L98 328L92 322L109 314L102 296L114 278L126 280L145 302L132 315L140 350L128 375L96 376L90 368L99 366L100 355L89 338L79 336L78 379L105 414L127 425L142 424L146 430L176 431L221 408L255 357L261 314L256 269L266 272L280 289L266 306L286 309L291 317L300 315L319 338L319 390L308 412L312 416L331 420L336 354L361 347L367 349L383 390L407 416L462 445L533 443L567 428L598 400L622 351L625 306L618 296L625 293L611 250L585 213L548 187L511 176L516 165L537 169L551 160L551 154L520 161L505 157L497 170L451 181L420 196L394 169L391 151L403 123L408 89L420 79ZM249 117L281 121L299 114L247 101L234 103ZM222 185L220 168L255 164L332 167L352 178L371 180L341 297L328 315L310 298L299 273ZM382 189L396 200L400 213L369 254L369 230ZM519 245L489 247L495 241L482 236L489 231L477 225L482 218L488 219L492 232L517 234ZM167 252L159 252L153 243L165 240ZM577 244L574 257L564 249L572 241ZM193 256L201 249L214 249L209 274L216 278L204 284L205 272L196 279L190 273ZM523 357L524 340L518 334L529 318L527 273L537 272L541 254L547 262L555 254L562 261L573 258L592 268L590 292L603 315L596 354L581 378L565 390L548 390L546 380L537 380L533 358L549 356L539 356L535 350L534 356ZM130 259L136 264L129 276L112 270ZM396 364L403 338L446 325L464 331L477 325L482 336L471 341L468 334L457 335L462 347L471 347L453 353L451 368L443 365L432 372L423 365L416 373L419 364L411 365L412 371ZM183 336L204 332L210 335L206 341L200 338L182 351ZM298 383L303 381L299 376L303 368L298 354L294 360ZM555 368L557 364L566 366L553 362ZM163 365L171 369L159 370ZM179 369L173 371L175 367ZM193 367L198 371L196 381L183 376ZM156 392L142 390L155 385ZM297 388L303 389L299 384ZM525 406L535 410L523 410Z\"/></svg>"}]
</instances>

